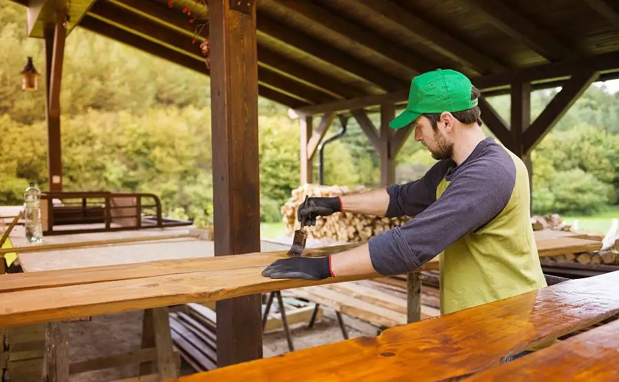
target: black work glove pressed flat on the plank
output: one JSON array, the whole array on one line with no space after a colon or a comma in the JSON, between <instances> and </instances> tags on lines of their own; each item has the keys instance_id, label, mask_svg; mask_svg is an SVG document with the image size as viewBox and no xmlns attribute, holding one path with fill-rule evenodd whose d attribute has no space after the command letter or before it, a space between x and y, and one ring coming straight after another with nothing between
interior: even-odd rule
<instances>
[{"instance_id":1,"label":"black work glove pressed flat on the plank","mask_svg":"<svg viewBox=\"0 0 619 382\"><path fill-rule=\"evenodd\" d=\"M262 276L323 280L331 276L329 256L321 258L281 258L266 267L262 271Z\"/></svg>"}]
</instances>

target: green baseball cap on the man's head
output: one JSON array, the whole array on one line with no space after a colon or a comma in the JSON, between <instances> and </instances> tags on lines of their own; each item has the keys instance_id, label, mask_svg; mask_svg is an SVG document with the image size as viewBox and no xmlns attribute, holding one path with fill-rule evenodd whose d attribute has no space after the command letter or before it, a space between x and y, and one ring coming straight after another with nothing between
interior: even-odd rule
<instances>
[{"instance_id":1,"label":"green baseball cap on the man's head","mask_svg":"<svg viewBox=\"0 0 619 382\"><path fill-rule=\"evenodd\" d=\"M402 128L423 113L463 111L477 106L470 99L473 84L459 71L436 69L416 76L411 81L406 110L389 122L392 128Z\"/></svg>"}]
</instances>

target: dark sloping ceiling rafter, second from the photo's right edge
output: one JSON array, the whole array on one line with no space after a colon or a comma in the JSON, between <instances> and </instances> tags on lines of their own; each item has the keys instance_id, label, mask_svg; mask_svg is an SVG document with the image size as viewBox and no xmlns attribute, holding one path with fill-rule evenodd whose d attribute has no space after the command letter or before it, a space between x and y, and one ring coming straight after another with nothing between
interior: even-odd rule
<instances>
[{"instance_id":1,"label":"dark sloping ceiling rafter, second from the photo's right edge","mask_svg":"<svg viewBox=\"0 0 619 382\"><path fill-rule=\"evenodd\" d=\"M547 30L535 25L499 0L461 0L508 36L530 47L549 61L576 58L578 54Z\"/></svg>"}]
</instances>

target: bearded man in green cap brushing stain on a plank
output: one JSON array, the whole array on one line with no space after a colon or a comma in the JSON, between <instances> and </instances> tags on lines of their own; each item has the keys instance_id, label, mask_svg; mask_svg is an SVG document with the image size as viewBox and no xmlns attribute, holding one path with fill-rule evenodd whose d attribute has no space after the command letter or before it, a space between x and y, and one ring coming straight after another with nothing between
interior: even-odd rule
<instances>
[{"instance_id":1,"label":"bearded man in green cap brushing stain on a plank","mask_svg":"<svg viewBox=\"0 0 619 382\"><path fill-rule=\"evenodd\" d=\"M323 258L287 258L263 276L319 280L407 273L440 256L441 313L546 286L530 221L528 172L481 129L479 91L452 70L413 78L406 110L389 124L413 124L437 163L424 177L362 194L310 198L298 219L358 212L414 216L368 243Z\"/></svg>"}]
</instances>

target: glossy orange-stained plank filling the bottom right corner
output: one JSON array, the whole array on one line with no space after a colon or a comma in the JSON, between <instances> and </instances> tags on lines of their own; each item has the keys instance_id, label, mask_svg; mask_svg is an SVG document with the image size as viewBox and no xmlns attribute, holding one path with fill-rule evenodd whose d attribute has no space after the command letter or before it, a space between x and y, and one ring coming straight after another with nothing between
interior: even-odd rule
<instances>
[{"instance_id":1,"label":"glossy orange-stained plank filling the bottom right corner","mask_svg":"<svg viewBox=\"0 0 619 382\"><path fill-rule=\"evenodd\" d=\"M619 320L466 381L619 381Z\"/></svg>"}]
</instances>

